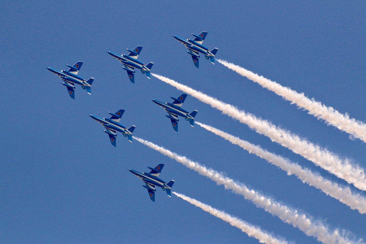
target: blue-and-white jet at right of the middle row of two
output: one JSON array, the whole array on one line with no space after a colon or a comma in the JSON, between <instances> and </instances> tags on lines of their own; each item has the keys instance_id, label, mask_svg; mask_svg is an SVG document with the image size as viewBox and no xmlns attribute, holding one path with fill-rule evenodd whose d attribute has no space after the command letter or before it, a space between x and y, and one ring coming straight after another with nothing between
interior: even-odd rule
<instances>
[{"instance_id":1,"label":"blue-and-white jet at right of the middle row of two","mask_svg":"<svg viewBox=\"0 0 366 244\"><path fill-rule=\"evenodd\" d=\"M188 111L184 110L182 107L184 100L186 100L187 94L182 94L178 98L170 97L173 99L173 103L162 103L158 100L152 100L158 106L162 107L169 115L165 115L170 119L172 122L173 129L178 132L178 116L185 118L192 127L194 127L194 117L197 114L197 110L189 113Z\"/></svg>"}]
</instances>

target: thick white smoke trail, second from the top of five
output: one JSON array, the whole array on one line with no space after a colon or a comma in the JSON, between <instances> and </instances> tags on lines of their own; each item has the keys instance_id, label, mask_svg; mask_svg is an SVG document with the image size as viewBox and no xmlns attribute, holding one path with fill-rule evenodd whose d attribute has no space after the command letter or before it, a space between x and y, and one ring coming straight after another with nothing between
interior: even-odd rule
<instances>
[{"instance_id":1,"label":"thick white smoke trail, second from the top of five","mask_svg":"<svg viewBox=\"0 0 366 244\"><path fill-rule=\"evenodd\" d=\"M292 134L287 130L280 129L269 121L259 119L253 114L239 110L231 104L219 101L216 98L210 97L186 85L182 85L167 77L157 74L152 75L159 80L190 94L203 103L207 103L211 107L222 111L223 114L227 114L234 119L238 119L241 123L245 123L257 133L268 136L272 141L289 148L291 151L303 156L337 177L355 185L363 191L366 191L366 174L364 169L358 165L352 165L349 159L341 159L339 156L329 152L327 149L321 148L320 146L300 138L298 135Z\"/></svg>"}]
</instances>

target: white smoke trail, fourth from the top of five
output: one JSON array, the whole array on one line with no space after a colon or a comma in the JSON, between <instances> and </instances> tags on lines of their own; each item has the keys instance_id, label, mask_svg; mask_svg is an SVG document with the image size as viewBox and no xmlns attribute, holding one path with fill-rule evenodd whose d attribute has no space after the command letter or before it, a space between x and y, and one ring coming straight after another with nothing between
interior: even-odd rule
<instances>
[{"instance_id":1,"label":"white smoke trail, fourth from the top of five","mask_svg":"<svg viewBox=\"0 0 366 244\"><path fill-rule=\"evenodd\" d=\"M261 195L259 192L253 189L247 188L246 185L235 182L231 178L225 177L222 173L219 173L213 169L208 169L205 166L197 162L193 162L184 156L180 156L174 152L169 151L163 147L160 147L150 141L143 140L138 137L134 137L135 140L142 144L160 152L161 154L168 156L171 159L182 163L189 169L196 171L197 173L206 176L217 183L217 185L224 185L225 189L231 189L234 193L243 195L245 199L250 200L257 207L263 208L265 211L279 217L282 221L291 224L294 227L302 230L307 236L313 236L318 241L324 244L351 244L362 243L362 240L357 242L351 241L347 237L342 236L344 231L334 230L330 233L328 227L320 221L313 221L311 217L307 217L306 214L300 213L298 210L294 210L290 207L280 204L275 200Z\"/></svg>"}]
</instances>

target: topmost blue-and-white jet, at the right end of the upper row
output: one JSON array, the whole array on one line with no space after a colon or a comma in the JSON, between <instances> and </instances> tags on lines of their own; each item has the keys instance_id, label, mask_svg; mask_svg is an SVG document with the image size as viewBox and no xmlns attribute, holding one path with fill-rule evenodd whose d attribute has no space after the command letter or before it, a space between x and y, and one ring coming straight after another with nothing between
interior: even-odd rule
<instances>
[{"instance_id":1,"label":"topmost blue-and-white jet, at the right end of the upper row","mask_svg":"<svg viewBox=\"0 0 366 244\"><path fill-rule=\"evenodd\" d=\"M173 36L177 41L182 43L184 47L188 48L187 53L192 56L192 60L194 65L198 68L198 59L199 59L199 53L202 53L205 55L206 59L210 59L212 64L215 64L215 55L218 48L214 48L210 51L210 49L206 48L202 45L203 40L205 40L205 37L207 35L207 32L201 32L199 35L191 34L195 38L193 40L187 39L184 40L183 38L179 36Z\"/></svg>"}]
</instances>

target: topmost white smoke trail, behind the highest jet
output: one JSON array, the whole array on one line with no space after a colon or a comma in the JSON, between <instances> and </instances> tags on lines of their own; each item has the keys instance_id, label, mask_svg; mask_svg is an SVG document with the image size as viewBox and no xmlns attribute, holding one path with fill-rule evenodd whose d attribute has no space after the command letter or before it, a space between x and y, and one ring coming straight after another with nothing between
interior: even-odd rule
<instances>
[{"instance_id":1,"label":"topmost white smoke trail, behind the highest jet","mask_svg":"<svg viewBox=\"0 0 366 244\"><path fill-rule=\"evenodd\" d=\"M304 95L304 93L298 93L288 87L281 86L275 81L271 81L263 76L254 74L253 72L238 65L220 59L218 59L217 62L231 70L234 70L236 73L248 78L249 80L257 82L262 87L275 92L277 95L280 95L284 99L290 101L291 104L295 103L300 108L306 109L309 111L309 114L314 115L314 117L324 119L329 125L333 125L338 129L351 134L353 137L357 137L366 142L366 125L363 122L350 118L348 114L341 114L334 108L327 107L314 99L309 99Z\"/></svg>"}]
</instances>

